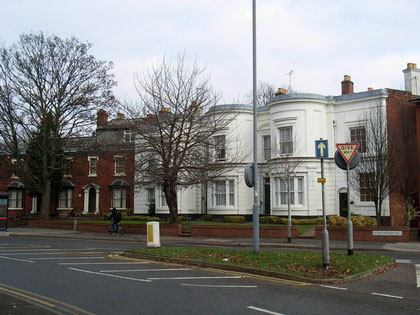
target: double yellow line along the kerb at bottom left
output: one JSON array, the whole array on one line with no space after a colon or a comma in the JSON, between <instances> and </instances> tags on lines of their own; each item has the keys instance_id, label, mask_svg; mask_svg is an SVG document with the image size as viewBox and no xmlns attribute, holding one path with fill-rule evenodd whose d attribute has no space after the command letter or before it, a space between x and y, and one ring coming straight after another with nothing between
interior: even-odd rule
<instances>
[{"instance_id":1,"label":"double yellow line along the kerb at bottom left","mask_svg":"<svg viewBox=\"0 0 420 315\"><path fill-rule=\"evenodd\" d=\"M6 293L11 296L18 297L23 300L34 302L35 304L41 305L45 308L51 309L53 311L60 311L62 314L86 314L93 315L88 311L85 311L76 306L54 300L52 298L39 295L33 292L26 290L18 289L7 284L0 283L0 292Z\"/></svg>"}]
</instances>

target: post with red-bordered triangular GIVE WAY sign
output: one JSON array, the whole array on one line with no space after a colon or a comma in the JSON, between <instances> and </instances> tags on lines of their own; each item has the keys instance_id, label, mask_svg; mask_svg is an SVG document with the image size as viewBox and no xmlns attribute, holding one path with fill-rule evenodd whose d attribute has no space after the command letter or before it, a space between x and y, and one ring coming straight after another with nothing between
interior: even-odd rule
<instances>
[{"instance_id":1,"label":"post with red-bordered triangular GIVE WAY sign","mask_svg":"<svg viewBox=\"0 0 420 315\"><path fill-rule=\"evenodd\" d=\"M353 255L353 222L351 222L350 212L350 162L357 152L358 143L337 143L338 152L346 161L347 172L347 255Z\"/></svg>"}]
</instances>

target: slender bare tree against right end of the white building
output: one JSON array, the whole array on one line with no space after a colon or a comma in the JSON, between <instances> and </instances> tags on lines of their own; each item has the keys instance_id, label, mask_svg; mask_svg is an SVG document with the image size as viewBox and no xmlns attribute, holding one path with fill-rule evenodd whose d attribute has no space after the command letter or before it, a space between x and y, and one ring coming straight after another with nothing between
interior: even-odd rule
<instances>
[{"instance_id":1,"label":"slender bare tree against right end of the white building","mask_svg":"<svg viewBox=\"0 0 420 315\"><path fill-rule=\"evenodd\" d=\"M396 184L389 180L391 154L388 150L386 109L372 107L359 119L365 129L366 141L359 143L360 163L350 172L350 185L362 201L375 204L376 221L381 224L382 204Z\"/></svg>"}]
</instances>

